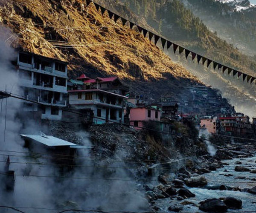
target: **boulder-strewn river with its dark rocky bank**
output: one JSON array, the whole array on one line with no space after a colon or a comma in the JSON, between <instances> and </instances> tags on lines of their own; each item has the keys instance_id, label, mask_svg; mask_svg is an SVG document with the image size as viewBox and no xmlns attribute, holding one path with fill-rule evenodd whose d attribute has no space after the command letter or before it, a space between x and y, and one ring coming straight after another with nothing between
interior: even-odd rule
<instances>
[{"instance_id":1,"label":"boulder-strewn river with its dark rocky bank","mask_svg":"<svg viewBox=\"0 0 256 213\"><path fill-rule=\"evenodd\" d=\"M145 185L145 196L151 209L155 212L227 212L229 209L247 210L249 205L255 205L250 198L244 198L253 196L255 199L255 146L227 144L217 148L214 157L203 155L198 162L178 170L173 178L166 174L159 176L160 184ZM243 177L241 173L244 173ZM234 182L232 178L240 181ZM202 196L202 191L206 197Z\"/></svg>"}]
</instances>

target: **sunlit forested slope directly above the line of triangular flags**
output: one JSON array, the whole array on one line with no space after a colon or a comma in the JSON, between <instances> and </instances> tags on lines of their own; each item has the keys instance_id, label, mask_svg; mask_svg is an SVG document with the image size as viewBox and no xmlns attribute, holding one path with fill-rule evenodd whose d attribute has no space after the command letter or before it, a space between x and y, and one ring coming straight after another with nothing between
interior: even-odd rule
<instances>
[{"instance_id":1,"label":"sunlit forested slope directly above the line of triangular flags","mask_svg":"<svg viewBox=\"0 0 256 213\"><path fill-rule=\"evenodd\" d=\"M166 38L227 66L255 74L255 60L241 54L233 45L221 40L217 33L207 29L203 21L180 0L119 0L119 2L138 16L144 17L148 25Z\"/></svg>"}]
</instances>

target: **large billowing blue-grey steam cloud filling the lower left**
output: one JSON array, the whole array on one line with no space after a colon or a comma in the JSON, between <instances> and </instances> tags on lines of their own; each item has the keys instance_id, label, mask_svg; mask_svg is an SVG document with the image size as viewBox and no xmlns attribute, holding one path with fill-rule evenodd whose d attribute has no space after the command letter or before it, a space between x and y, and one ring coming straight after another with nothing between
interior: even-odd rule
<instances>
[{"instance_id":1,"label":"large billowing blue-grey steam cloud filling the lower left","mask_svg":"<svg viewBox=\"0 0 256 213\"><path fill-rule=\"evenodd\" d=\"M19 91L22 90L18 86L19 77L10 63L11 60L15 60L13 57L15 57L15 51L6 46L4 40L0 41L0 89L19 94ZM60 167L48 165L53 164L52 161L47 159L50 156L48 154L26 154L29 150L23 147L24 141L20 138L20 133L36 134L42 127L36 125L37 121L26 121L24 118L22 120L26 122L22 123L17 116L17 113L22 115L21 107L22 102L15 98L0 100L0 109L2 109L0 161L3 161L0 163L0 173L2 173L0 181L8 155L11 161L10 170L15 170L16 175L25 175L16 176L13 192L6 191L5 184L0 184L0 205L19 207L18 209L26 213L56 212L56 210L38 208L112 211L148 210L148 201L145 200L144 192L140 190L136 182L123 181L124 179L131 180L133 178L127 169L122 168L124 163L98 162L95 164L95 159L90 157L89 151L81 150L79 155L86 157L79 157L77 160L79 167L66 171ZM7 113L6 116L5 113ZM6 140L4 140L5 132ZM83 139L85 146L91 146L85 132L74 132L74 134L78 134ZM22 153L3 152L3 150ZM41 153L48 152L48 150L39 151ZM120 161L120 155L116 158L119 158ZM41 163L41 165L17 164L14 162ZM34 177L31 175L65 176L67 178ZM77 177L82 178L76 179ZM1 183L3 182L1 181ZM35 209L21 207L34 207ZM0 212L7 212L7 209L0 209Z\"/></svg>"}]
</instances>

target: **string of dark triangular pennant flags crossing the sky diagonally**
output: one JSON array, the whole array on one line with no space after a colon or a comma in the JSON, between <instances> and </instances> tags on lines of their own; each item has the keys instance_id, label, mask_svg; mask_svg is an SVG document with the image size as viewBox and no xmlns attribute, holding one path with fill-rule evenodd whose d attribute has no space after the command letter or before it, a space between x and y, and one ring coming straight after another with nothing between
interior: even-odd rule
<instances>
[{"instance_id":1,"label":"string of dark triangular pennant flags crossing the sky diagonally","mask_svg":"<svg viewBox=\"0 0 256 213\"><path fill-rule=\"evenodd\" d=\"M165 46L166 46L166 43L167 43L167 47L166 47L167 50L169 50L170 47L173 46L173 52L174 52L174 54L176 54L176 51L177 51L178 48L179 48L179 54L180 54L180 55L181 55L181 54L184 52L184 50L185 50L185 57L186 57L186 59L188 58L189 54L191 54L192 60L194 61L195 58L197 58L198 64L200 63L200 61L201 61L201 59L202 59L202 65L204 66L204 64L207 62L207 68L209 68L209 66L210 66L211 63L213 63L213 69L214 69L214 70L218 67L218 70L222 71L223 74L224 74L225 71L227 70L227 75L230 75L230 74L232 73L233 76L236 76L236 74L237 74L237 78L240 78L241 75L242 75L243 81L246 80L247 83L250 82L250 84L253 83L253 81L255 81L255 83L256 83L256 77L253 77L253 76L248 75L248 74L243 73L243 72L239 72L239 71L237 71L236 69L230 68L230 67L225 66L225 65L223 65L223 64L221 64L221 63L218 63L218 62L216 62L216 61L214 61L214 60L211 60L211 59L209 59L209 58L206 58L206 57L204 57L204 56L202 56L202 55L199 55L198 53L192 52L191 50L184 48L183 46L180 46L180 45L178 45L178 44L176 44L176 43L173 43L172 41L169 41L169 40L167 40L167 39L164 38L164 37L161 37L161 36L159 36L159 35L156 35L156 34L154 34L153 32L150 32L149 30L147 30L147 29L145 29L145 28L143 28L143 27L141 27L141 26L139 26L139 25L137 25L137 24L135 24L135 23L133 23L133 22L127 20L127 19L125 19L124 17L121 17L121 16L119 16L118 14L115 14L114 12L112 12L112 11L110 11L110 10L104 8L103 6L100 6L99 4L95 3L93 0L86 0L86 7L88 7L88 6L90 5L90 3L93 3L93 5L95 6L95 8L96 8L96 10L97 10L98 12L99 12L99 9L100 9L102 15L104 15L105 11L107 11L107 12L108 12L108 16L109 16L110 19L112 19L112 18L114 17L114 22L115 22L115 23L116 23L116 22L119 20L119 18L120 18L121 21L122 21L122 26L125 26L125 24L126 24L127 22L129 22L129 23L130 23L130 29L133 29L133 27L136 25L138 31L139 31L140 33L143 32L143 36L144 36L144 37L146 37L146 35L148 34L148 39L149 39L150 41L152 41L152 38L153 38L153 36L154 36L154 44L155 44L155 45L157 45L158 41L161 40L163 49L165 49ZM221 70L221 69L222 69L222 70Z\"/></svg>"}]
</instances>

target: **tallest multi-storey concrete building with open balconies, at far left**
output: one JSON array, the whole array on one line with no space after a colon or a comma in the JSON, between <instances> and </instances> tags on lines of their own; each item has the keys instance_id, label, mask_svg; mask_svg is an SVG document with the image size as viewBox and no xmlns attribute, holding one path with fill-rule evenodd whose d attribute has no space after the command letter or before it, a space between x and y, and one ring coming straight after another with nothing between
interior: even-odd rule
<instances>
[{"instance_id":1,"label":"tallest multi-storey concrete building with open balconies, at far left","mask_svg":"<svg viewBox=\"0 0 256 213\"><path fill-rule=\"evenodd\" d=\"M17 72L23 95L39 104L24 102L24 110L41 119L61 120L67 106L67 63L29 52L19 51Z\"/></svg>"}]
</instances>

